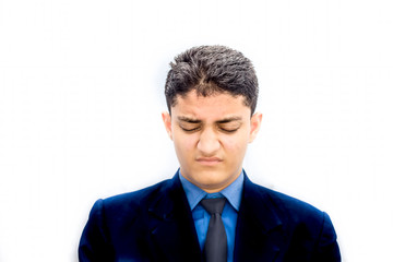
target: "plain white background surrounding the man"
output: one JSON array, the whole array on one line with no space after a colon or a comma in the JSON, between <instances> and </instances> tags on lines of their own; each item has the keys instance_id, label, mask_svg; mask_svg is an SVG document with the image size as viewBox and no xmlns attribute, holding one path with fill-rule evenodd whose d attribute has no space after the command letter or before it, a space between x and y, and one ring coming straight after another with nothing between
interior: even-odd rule
<instances>
[{"instance_id":1,"label":"plain white background surrounding the man","mask_svg":"<svg viewBox=\"0 0 393 262\"><path fill-rule=\"evenodd\" d=\"M172 57L242 51L251 179L326 211L343 260L393 261L391 1L0 0L0 261L76 261L98 198L175 174Z\"/></svg>"}]
</instances>

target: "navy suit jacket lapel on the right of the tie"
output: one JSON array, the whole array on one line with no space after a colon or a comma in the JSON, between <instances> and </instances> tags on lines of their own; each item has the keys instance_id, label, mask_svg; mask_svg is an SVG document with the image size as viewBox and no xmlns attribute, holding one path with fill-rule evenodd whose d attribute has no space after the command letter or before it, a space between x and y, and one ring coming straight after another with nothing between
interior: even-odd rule
<instances>
[{"instance_id":1,"label":"navy suit jacket lapel on the right of the tie","mask_svg":"<svg viewBox=\"0 0 393 262\"><path fill-rule=\"evenodd\" d=\"M275 261L286 242L278 211L267 194L245 176L235 239L235 261Z\"/></svg>"}]
</instances>

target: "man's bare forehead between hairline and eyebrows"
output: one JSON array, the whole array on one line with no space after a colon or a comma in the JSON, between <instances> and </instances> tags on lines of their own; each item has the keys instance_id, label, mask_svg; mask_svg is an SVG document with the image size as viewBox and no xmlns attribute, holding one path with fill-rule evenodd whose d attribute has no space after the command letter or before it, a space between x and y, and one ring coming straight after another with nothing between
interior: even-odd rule
<instances>
[{"instance_id":1,"label":"man's bare forehead between hairline and eyebrows","mask_svg":"<svg viewBox=\"0 0 393 262\"><path fill-rule=\"evenodd\" d=\"M178 96L171 112L198 119L222 119L250 115L250 108L245 104L243 96L233 96L228 93L215 93L209 96L198 95L195 91L184 96Z\"/></svg>"}]
</instances>

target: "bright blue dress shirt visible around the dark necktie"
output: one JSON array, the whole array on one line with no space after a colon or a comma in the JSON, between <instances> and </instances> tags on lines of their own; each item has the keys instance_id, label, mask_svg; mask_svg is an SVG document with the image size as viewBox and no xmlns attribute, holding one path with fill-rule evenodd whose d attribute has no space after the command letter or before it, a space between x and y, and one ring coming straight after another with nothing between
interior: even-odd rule
<instances>
[{"instance_id":1,"label":"bright blue dress shirt visible around the dark necktie","mask_svg":"<svg viewBox=\"0 0 393 262\"><path fill-rule=\"evenodd\" d=\"M240 209L241 192L243 188L245 174L241 171L240 176L228 187L223 189L217 193L207 193L191 183L187 180L181 172L180 181L184 189L187 200L190 204L192 211L192 218L195 224L198 240L200 242L201 250L203 249L204 242L206 240L209 221L211 215L202 207L200 201L202 199L212 199L212 198L222 198L225 196L227 202L225 203L222 218L225 227L225 233L227 235L228 243L228 262L234 261L234 249L235 249L235 233L236 233L236 223L238 217L238 212Z\"/></svg>"}]
</instances>

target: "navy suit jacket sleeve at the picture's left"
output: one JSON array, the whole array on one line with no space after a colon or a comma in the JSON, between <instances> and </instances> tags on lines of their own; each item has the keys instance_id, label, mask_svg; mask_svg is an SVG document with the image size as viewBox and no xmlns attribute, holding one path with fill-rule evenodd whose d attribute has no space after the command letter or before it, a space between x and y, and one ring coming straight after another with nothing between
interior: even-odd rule
<instances>
[{"instance_id":1,"label":"navy suit jacket sleeve at the picture's left","mask_svg":"<svg viewBox=\"0 0 393 262\"><path fill-rule=\"evenodd\" d=\"M104 201L94 204L79 246L80 262L114 261L114 251L105 225Z\"/></svg>"}]
</instances>

